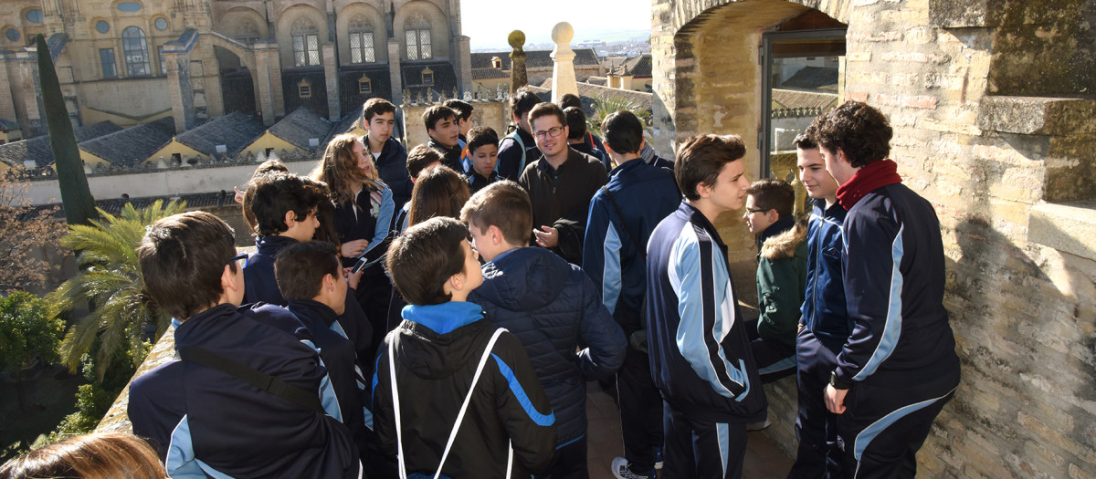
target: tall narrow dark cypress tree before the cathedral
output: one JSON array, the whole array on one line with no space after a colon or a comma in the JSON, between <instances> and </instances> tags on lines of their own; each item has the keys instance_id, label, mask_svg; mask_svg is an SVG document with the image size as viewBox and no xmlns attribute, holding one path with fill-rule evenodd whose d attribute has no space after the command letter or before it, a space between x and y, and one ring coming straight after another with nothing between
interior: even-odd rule
<instances>
[{"instance_id":1,"label":"tall narrow dark cypress tree before the cathedral","mask_svg":"<svg viewBox=\"0 0 1096 479\"><path fill-rule=\"evenodd\" d=\"M90 220L99 219L95 199L91 197L88 177L83 174L83 162L76 145L72 120L69 119L68 108L65 107L65 97L61 95L60 81L57 80L57 71L54 70L54 59L49 55L46 37L42 34L38 34L37 46L42 103L46 110L49 147L54 152L54 166L57 168L57 180L60 184L65 220L69 225L91 224Z\"/></svg>"}]
</instances>

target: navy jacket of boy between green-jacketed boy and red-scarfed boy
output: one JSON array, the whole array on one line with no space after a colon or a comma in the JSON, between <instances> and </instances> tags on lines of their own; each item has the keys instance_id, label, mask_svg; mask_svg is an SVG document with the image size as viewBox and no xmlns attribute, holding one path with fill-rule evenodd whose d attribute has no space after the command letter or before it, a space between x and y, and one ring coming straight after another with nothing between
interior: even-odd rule
<instances>
[{"instance_id":1,"label":"navy jacket of boy between green-jacketed boy and red-scarfed boy","mask_svg":"<svg viewBox=\"0 0 1096 479\"><path fill-rule=\"evenodd\" d=\"M845 257L845 238L841 223L845 208L825 200L814 200L814 211L807 226L807 289L803 296L802 324L834 353L853 330L845 311L845 285L842 283L841 261Z\"/></svg>"}]
</instances>

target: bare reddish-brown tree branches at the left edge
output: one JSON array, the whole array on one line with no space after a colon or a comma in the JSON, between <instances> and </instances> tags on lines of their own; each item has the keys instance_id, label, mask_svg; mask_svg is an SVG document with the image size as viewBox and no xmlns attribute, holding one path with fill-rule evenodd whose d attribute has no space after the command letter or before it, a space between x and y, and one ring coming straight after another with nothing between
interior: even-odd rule
<instances>
[{"instance_id":1,"label":"bare reddish-brown tree branches at the left edge","mask_svg":"<svg viewBox=\"0 0 1096 479\"><path fill-rule=\"evenodd\" d=\"M24 198L30 184L0 172L0 294L45 287L59 267L43 259L61 253L65 222L54 209L36 210Z\"/></svg>"}]
</instances>

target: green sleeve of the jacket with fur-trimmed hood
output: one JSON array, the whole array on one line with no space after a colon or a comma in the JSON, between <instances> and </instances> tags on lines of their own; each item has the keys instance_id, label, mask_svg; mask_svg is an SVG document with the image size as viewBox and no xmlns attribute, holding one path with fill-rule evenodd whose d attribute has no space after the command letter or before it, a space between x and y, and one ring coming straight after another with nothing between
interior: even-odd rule
<instances>
[{"instance_id":1,"label":"green sleeve of the jacket with fur-trimmed hood","mask_svg":"<svg viewBox=\"0 0 1096 479\"><path fill-rule=\"evenodd\" d=\"M803 284L799 282L799 258L762 258L757 265L757 335L764 339L795 344Z\"/></svg>"}]
</instances>

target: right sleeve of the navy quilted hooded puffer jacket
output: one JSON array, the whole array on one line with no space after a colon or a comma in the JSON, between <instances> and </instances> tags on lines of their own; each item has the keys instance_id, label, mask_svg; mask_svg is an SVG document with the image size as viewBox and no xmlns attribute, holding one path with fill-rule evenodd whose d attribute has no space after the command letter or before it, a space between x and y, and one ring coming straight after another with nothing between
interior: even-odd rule
<instances>
[{"instance_id":1,"label":"right sleeve of the navy quilted hooded puffer jacket","mask_svg":"<svg viewBox=\"0 0 1096 479\"><path fill-rule=\"evenodd\" d=\"M615 373L624 365L625 349L628 341L624 337L620 325L601 302L594 283L585 274L575 271L575 277L582 281L582 323L580 335L587 344L579 351L579 369L586 381L601 379Z\"/></svg>"}]
</instances>

